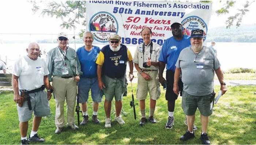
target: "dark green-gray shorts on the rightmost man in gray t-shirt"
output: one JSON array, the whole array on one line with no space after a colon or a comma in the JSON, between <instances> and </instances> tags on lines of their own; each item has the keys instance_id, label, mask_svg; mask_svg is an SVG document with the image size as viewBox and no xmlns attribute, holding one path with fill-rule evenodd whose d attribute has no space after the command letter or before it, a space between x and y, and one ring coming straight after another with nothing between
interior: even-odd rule
<instances>
[{"instance_id":1,"label":"dark green-gray shorts on the rightmost man in gray t-shirt","mask_svg":"<svg viewBox=\"0 0 256 145\"><path fill-rule=\"evenodd\" d=\"M186 115L194 115L198 107L200 114L204 116L210 116L212 114L211 108L212 95L193 96L187 92L182 93L182 109Z\"/></svg>"}]
</instances>

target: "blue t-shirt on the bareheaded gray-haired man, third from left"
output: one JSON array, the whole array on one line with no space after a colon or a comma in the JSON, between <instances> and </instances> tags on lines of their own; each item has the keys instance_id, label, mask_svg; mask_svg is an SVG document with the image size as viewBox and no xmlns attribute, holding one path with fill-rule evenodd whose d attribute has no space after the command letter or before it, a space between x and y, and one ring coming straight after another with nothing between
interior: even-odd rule
<instances>
[{"instance_id":1,"label":"blue t-shirt on the bareheaded gray-haired man, third from left","mask_svg":"<svg viewBox=\"0 0 256 145\"><path fill-rule=\"evenodd\" d=\"M97 64L96 60L99 54L99 47L93 46L91 51L87 51L84 46L76 50L78 60L81 64L82 78L95 78L97 77Z\"/></svg>"}]
</instances>

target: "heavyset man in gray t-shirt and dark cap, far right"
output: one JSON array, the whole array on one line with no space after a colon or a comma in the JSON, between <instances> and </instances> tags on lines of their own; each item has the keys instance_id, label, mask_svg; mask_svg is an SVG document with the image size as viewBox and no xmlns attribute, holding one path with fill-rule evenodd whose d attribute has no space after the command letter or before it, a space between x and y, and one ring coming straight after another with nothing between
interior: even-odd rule
<instances>
[{"instance_id":1,"label":"heavyset man in gray t-shirt and dark cap, far right","mask_svg":"<svg viewBox=\"0 0 256 145\"><path fill-rule=\"evenodd\" d=\"M178 79L182 72L181 78L184 84L182 93L182 109L187 115L187 132L180 140L189 140L195 137L193 124L195 122L195 113L198 108L202 123L202 134L200 139L202 144L210 144L207 136L207 126L209 116L212 114L213 97L214 97L214 72L217 74L221 84L222 94L227 91L224 82L221 64L214 51L211 48L203 46L204 31L192 30L190 43L180 52L176 62L174 74L173 91L178 94Z\"/></svg>"}]
</instances>

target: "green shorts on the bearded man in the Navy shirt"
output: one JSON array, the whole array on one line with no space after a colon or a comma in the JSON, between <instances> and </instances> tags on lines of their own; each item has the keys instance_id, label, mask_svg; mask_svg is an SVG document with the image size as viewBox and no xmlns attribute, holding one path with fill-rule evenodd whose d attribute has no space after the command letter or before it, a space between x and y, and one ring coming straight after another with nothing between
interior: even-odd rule
<instances>
[{"instance_id":1,"label":"green shorts on the bearded man in the Navy shirt","mask_svg":"<svg viewBox=\"0 0 256 145\"><path fill-rule=\"evenodd\" d=\"M123 99L123 96L127 95L128 83L126 75L124 75L122 78L110 78L106 75L103 75L102 82L105 84L103 93L106 100L112 101L115 97L116 101L120 101Z\"/></svg>"}]
</instances>

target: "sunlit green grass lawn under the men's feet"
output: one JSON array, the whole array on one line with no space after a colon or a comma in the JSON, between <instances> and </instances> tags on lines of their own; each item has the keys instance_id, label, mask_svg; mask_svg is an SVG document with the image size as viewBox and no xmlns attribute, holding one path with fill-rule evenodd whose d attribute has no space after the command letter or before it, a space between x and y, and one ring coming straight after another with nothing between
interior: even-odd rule
<instances>
[{"instance_id":1,"label":"sunlit green grass lawn under the men's feet","mask_svg":"<svg viewBox=\"0 0 256 145\"><path fill-rule=\"evenodd\" d=\"M229 86L228 89L227 93L214 106L214 112L210 117L208 135L211 144L256 144L256 95L253 94L256 92L256 86ZM219 86L215 90L218 91ZM185 142L179 139L187 130L187 126L184 124L185 115L181 109L181 97L178 97L176 101L175 125L173 129L168 130L164 127L168 113L163 91L157 101L155 111L157 124L148 122L144 127L139 127L139 106L136 106L137 120L134 119L133 110L129 106L129 101L131 101L130 84L128 92L128 96L124 97L123 101L123 109L126 112L123 115L125 125L120 126L114 121L114 114L112 114L112 128L105 129L103 103L100 103L98 113L101 124L93 124L90 99L89 123L86 126L79 126L78 131L65 128L65 132L58 135L54 134L56 129L54 125L55 102L54 99L51 99L52 114L43 118L39 126L39 136L46 139L42 144L201 144L199 139L201 123L198 110L195 121L195 125L197 125L196 138ZM136 92L136 84L133 85L133 92ZM149 99L146 101L146 115L148 116ZM135 102L138 103L137 100ZM1 93L0 104L0 144L19 144L19 120L13 94L11 92ZM75 118L77 118L76 114ZM80 118L82 120L82 117ZM29 121L28 134L31 132L31 124L32 119Z\"/></svg>"}]
</instances>

